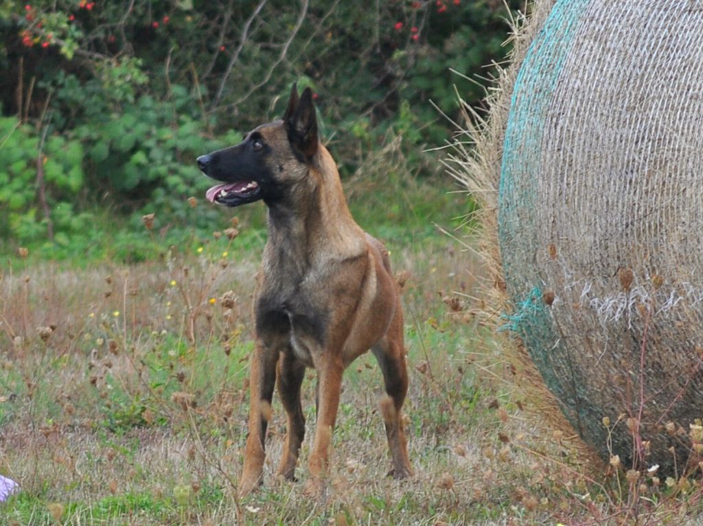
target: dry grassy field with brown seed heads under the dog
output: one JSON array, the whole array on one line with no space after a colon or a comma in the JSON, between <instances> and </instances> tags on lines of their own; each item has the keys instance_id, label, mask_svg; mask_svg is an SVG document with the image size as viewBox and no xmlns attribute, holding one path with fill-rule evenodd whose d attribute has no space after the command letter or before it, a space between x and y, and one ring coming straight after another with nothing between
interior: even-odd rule
<instances>
[{"instance_id":1,"label":"dry grassy field with brown seed heads under the dog","mask_svg":"<svg viewBox=\"0 0 703 526\"><path fill-rule=\"evenodd\" d=\"M0 504L0 524L695 523L699 482L659 485L653 476L633 482L621 469L607 472L510 381L520 375L476 314L477 258L428 220L449 230L460 223L453 215L467 210L467 198L447 190L349 184L359 222L385 240L396 272L408 277L413 478L386 476L382 382L365 355L345 374L326 497L310 501L303 482L274 477L285 421L276 398L264 486L236 496L250 301L265 236L263 206L252 206L238 237L194 235L139 265L18 256L3 263L0 473L22 491ZM223 212L213 229L228 226ZM314 426L308 376L300 480Z\"/></svg>"}]
</instances>

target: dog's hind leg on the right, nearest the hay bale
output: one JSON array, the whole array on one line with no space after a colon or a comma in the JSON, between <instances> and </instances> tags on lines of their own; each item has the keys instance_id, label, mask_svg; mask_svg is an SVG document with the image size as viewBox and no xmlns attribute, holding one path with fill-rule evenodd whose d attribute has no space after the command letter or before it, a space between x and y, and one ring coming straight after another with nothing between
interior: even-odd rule
<instances>
[{"instance_id":1,"label":"dog's hind leg on the right, nearest the hay bale","mask_svg":"<svg viewBox=\"0 0 703 526\"><path fill-rule=\"evenodd\" d=\"M408 459L408 444L401 409L408 392L408 370L403 344L403 318L400 306L384 338L373 347L373 354L383 372L386 395L380 407L388 438L393 467L389 475L407 478L413 475Z\"/></svg>"}]
</instances>

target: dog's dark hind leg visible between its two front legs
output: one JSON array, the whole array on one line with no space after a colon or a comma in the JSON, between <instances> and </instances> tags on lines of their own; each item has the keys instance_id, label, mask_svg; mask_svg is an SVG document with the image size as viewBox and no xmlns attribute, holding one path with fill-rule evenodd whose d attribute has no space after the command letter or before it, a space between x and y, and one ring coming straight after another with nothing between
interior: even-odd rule
<instances>
[{"instance_id":1,"label":"dog's dark hind leg visible between its two front legs","mask_svg":"<svg viewBox=\"0 0 703 526\"><path fill-rule=\"evenodd\" d=\"M288 480L295 480L298 451L305 435L305 418L300 405L300 386L304 376L305 364L290 349L283 353L278 362L278 394L288 415L288 428L278 475L283 475Z\"/></svg>"}]
</instances>

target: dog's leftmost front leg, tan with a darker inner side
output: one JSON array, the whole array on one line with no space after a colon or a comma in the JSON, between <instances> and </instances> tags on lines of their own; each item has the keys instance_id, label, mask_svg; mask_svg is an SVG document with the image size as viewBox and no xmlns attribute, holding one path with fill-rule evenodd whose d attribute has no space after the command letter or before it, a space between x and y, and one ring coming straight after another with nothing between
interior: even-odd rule
<instances>
[{"instance_id":1,"label":"dog's leftmost front leg, tan with a darker inner side","mask_svg":"<svg viewBox=\"0 0 703 526\"><path fill-rule=\"evenodd\" d=\"M278 348L257 341L250 370L249 436L244 449L244 469L239 493L244 496L262 482L266 426L271 419L271 397L276 385Z\"/></svg>"}]
</instances>

